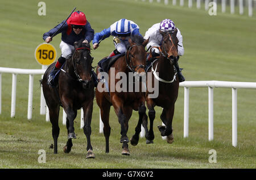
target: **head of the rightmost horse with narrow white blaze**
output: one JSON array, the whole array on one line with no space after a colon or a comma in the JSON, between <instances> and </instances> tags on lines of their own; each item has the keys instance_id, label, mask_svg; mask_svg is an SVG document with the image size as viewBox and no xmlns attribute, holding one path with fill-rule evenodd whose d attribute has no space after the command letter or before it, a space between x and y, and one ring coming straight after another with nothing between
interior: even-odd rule
<instances>
[{"instance_id":1,"label":"head of the rightmost horse with narrow white blaze","mask_svg":"<svg viewBox=\"0 0 256 180\"><path fill-rule=\"evenodd\" d=\"M174 31L160 31L160 34L163 36L160 52L173 63L178 57L177 44L179 43L179 40L176 36L177 28L175 28Z\"/></svg>"}]
</instances>

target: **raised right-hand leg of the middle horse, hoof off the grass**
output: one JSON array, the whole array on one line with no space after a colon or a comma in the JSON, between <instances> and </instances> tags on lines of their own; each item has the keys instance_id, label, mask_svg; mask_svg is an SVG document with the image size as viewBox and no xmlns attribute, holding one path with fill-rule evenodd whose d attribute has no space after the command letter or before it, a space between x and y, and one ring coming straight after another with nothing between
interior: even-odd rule
<instances>
[{"instance_id":1,"label":"raised right-hand leg of the middle horse, hoof off the grass","mask_svg":"<svg viewBox=\"0 0 256 180\"><path fill-rule=\"evenodd\" d=\"M131 137L131 145L137 145L138 142L139 142L139 133L141 132L141 124L142 124L142 122L144 122L143 123L144 126L146 124L145 131L146 131L146 133L148 133L148 129L147 129L147 115L146 115L146 107L145 107L145 105L143 104L142 106L140 106L138 108L138 111L139 111L139 120L138 120L137 127L135 128L135 134L133 135L133 137Z\"/></svg>"}]
</instances>

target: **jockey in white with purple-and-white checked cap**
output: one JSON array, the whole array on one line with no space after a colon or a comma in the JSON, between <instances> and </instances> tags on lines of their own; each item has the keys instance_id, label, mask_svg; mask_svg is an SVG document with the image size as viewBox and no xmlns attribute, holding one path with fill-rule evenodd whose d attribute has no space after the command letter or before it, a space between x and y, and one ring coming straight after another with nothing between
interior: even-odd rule
<instances>
[{"instance_id":1,"label":"jockey in white with purple-and-white checked cap","mask_svg":"<svg viewBox=\"0 0 256 180\"><path fill-rule=\"evenodd\" d=\"M146 34L144 36L144 39L148 39L148 37L150 37L146 48L148 49L150 46L151 47L154 47L154 46L159 47L161 45L162 39L163 39L163 36L160 34L160 31L174 31L175 28L176 27L175 27L174 22L172 22L172 20L170 20L170 19L164 19L164 20L162 20L161 23L154 24L151 28L149 28L146 31ZM174 61L174 66L177 70L179 81L183 82L183 81L185 81L185 78L180 71L179 64L177 63L177 61L179 60L179 56L184 55L183 37L178 28L177 28L177 39L179 40L178 47L177 47L178 58L176 61ZM153 57L160 55L158 48L152 48L151 50L152 50Z\"/></svg>"}]
</instances>

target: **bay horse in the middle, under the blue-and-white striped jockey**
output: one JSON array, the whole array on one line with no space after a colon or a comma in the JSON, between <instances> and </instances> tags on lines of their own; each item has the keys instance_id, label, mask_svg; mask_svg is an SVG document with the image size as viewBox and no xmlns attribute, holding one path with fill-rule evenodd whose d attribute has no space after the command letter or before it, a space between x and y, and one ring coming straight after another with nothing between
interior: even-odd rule
<instances>
[{"instance_id":1,"label":"bay horse in the middle, under the blue-and-white striped jockey","mask_svg":"<svg viewBox=\"0 0 256 180\"><path fill-rule=\"evenodd\" d=\"M129 37L130 46L127 47L125 55L121 56L115 61L110 67L114 68L115 77L117 73L125 73L128 77L129 72L132 72L134 76L145 73L146 65L146 51L145 47L148 43L148 39L144 40L142 36ZM99 77L99 66L97 67L97 76ZM113 69L112 69L113 70ZM146 115L145 106L145 92L139 90L138 92L130 91L117 91L115 85L118 83L118 79L111 78L111 69L108 72L109 92L99 91L100 86L103 85L101 81L96 87L96 102L100 107L100 114L102 122L104 123L104 136L106 142L106 153L109 153L109 136L110 136L110 125L109 125L109 112L110 106L113 105L115 114L118 117L118 122L121 124L121 139L122 143L122 154L130 155L128 144L129 138L126 133L128 131L128 122L133 113L133 110L139 112L139 122L142 122ZM146 74L145 74L146 75ZM114 86L112 86L112 84ZM129 82L127 81L127 87ZM140 85L142 82L140 82ZM146 86L146 82L145 82ZM144 120L143 120L144 122Z\"/></svg>"}]
</instances>

